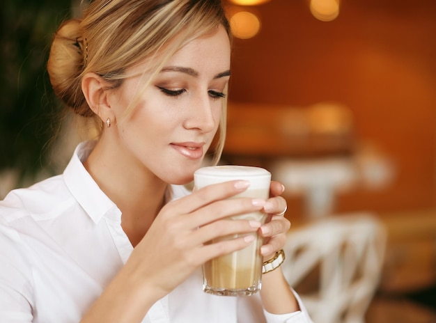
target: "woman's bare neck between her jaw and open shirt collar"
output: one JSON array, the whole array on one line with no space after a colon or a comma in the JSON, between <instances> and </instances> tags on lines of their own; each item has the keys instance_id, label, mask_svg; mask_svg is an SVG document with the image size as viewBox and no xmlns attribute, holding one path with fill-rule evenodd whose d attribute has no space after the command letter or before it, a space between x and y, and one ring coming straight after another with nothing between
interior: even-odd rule
<instances>
[{"instance_id":1,"label":"woman's bare neck between her jaw and open shirt collar","mask_svg":"<svg viewBox=\"0 0 436 323\"><path fill-rule=\"evenodd\" d=\"M162 209L168 184L145 167L120 156L123 154L113 152L99 142L84 166L120 209L121 226L136 246Z\"/></svg>"}]
</instances>

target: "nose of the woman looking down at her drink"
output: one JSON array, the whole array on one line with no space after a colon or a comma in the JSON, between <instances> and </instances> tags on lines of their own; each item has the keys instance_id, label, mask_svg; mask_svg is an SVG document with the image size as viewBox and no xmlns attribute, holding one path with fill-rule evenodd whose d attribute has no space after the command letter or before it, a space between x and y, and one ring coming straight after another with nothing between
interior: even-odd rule
<instances>
[{"instance_id":1,"label":"nose of the woman looking down at her drink","mask_svg":"<svg viewBox=\"0 0 436 323\"><path fill-rule=\"evenodd\" d=\"M193 97L183 126L185 129L198 129L204 133L215 130L219 123L221 105L220 100L210 100L208 95Z\"/></svg>"}]
</instances>

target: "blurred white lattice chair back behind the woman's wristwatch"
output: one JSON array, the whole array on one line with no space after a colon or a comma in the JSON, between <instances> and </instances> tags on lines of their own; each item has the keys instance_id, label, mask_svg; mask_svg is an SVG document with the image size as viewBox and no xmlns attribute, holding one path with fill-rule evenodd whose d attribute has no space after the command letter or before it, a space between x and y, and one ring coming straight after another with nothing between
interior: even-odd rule
<instances>
[{"instance_id":1,"label":"blurred white lattice chair back behind the woman's wristwatch","mask_svg":"<svg viewBox=\"0 0 436 323\"><path fill-rule=\"evenodd\" d=\"M327 216L290 230L283 272L314 323L363 323L382 271L386 232L374 214ZM304 279L316 280L309 292Z\"/></svg>"}]
</instances>

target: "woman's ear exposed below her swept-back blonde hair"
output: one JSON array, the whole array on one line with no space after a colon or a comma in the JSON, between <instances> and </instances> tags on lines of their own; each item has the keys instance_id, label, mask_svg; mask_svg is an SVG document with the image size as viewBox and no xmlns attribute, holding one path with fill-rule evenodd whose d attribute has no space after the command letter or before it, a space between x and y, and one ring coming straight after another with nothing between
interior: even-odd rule
<instances>
[{"instance_id":1,"label":"woman's ear exposed below her swept-back blonde hair","mask_svg":"<svg viewBox=\"0 0 436 323\"><path fill-rule=\"evenodd\" d=\"M81 90L86 102L103 123L106 122L107 118L114 120L114 113L107 97L108 92L104 90L108 87L107 81L95 73L86 73L81 80Z\"/></svg>"}]
</instances>

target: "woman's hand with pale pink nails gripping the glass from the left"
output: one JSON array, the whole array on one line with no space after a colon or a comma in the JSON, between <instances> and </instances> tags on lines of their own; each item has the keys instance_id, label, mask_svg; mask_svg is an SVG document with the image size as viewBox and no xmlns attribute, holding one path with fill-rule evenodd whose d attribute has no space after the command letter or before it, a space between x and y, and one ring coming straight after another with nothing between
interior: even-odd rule
<instances>
[{"instance_id":1,"label":"woman's hand with pale pink nails gripping the glass from the left","mask_svg":"<svg viewBox=\"0 0 436 323\"><path fill-rule=\"evenodd\" d=\"M159 299L204 262L251 244L253 235L209 243L217 237L254 233L260 227L258 221L226 219L263 209L265 200L226 199L247 189L248 184L232 181L210 185L165 205L125 266L130 269L130 277L155 290ZM271 199L273 212L278 208L277 203L279 207L283 204L281 200ZM266 228L277 233L275 225ZM273 243L275 247L277 242Z\"/></svg>"}]
</instances>

